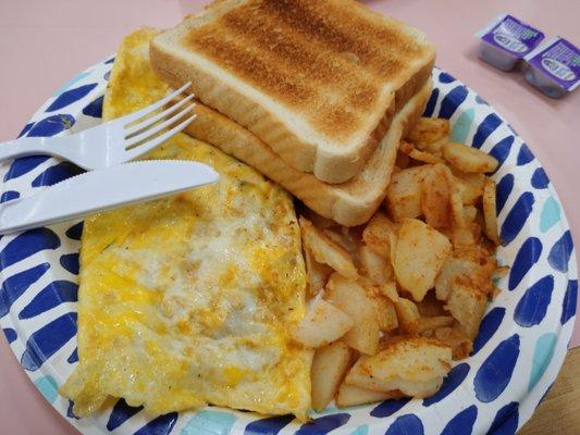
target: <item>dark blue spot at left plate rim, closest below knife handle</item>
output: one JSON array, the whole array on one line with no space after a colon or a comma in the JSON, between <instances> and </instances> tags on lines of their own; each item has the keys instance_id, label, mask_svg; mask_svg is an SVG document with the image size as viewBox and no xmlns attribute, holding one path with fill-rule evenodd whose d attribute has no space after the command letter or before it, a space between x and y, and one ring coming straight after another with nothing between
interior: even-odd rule
<instances>
[{"instance_id":1,"label":"dark blue spot at left plate rim, closest below knife handle","mask_svg":"<svg viewBox=\"0 0 580 435\"><path fill-rule=\"evenodd\" d=\"M17 263L45 249L57 249L61 240L49 228L35 228L18 234L0 251L0 269Z\"/></svg>"}]
</instances>

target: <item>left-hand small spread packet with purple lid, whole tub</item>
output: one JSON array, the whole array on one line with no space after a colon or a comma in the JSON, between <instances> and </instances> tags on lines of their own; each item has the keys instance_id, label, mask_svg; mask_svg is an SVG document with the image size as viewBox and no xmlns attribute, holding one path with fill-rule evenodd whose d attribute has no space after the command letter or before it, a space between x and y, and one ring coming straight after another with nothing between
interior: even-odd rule
<instances>
[{"instance_id":1,"label":"left-hand small spread packet with purple lid, whole tub","mask_svg":"<svg viewBox=\"0 0 580 435\"><path fill-rule=\"evenodd\" d=\"M514 70L544 39L539 29L505 13L476 36L480 39L479 58L503 71Z\"/></svg>"}]
</instances>

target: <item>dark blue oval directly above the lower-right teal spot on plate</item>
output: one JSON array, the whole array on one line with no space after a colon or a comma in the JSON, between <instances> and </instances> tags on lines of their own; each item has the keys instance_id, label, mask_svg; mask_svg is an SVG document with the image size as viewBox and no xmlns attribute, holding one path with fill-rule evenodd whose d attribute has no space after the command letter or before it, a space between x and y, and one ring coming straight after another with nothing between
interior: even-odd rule
<instances>
[{"instance_id":1,"label":"dark blue oval directly above the lower-right teal spot on plate","mask_svg":"<svg viewBox=\"0 0 580 435\"><path fill-rule=\"evenodd\" d=\"M530 327L540 324L547 312L554 290L554 276L547 275L526 290L514 312L518 325Z\"/></svg>"}]
</instances>

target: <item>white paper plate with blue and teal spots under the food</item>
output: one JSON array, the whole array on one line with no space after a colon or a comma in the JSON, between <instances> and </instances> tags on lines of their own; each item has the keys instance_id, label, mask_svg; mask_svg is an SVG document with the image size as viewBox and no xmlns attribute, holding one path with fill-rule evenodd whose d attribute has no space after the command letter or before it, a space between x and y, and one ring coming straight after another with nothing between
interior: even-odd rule
<instances>
[{"instance_id":1,"label":"white paper plate with blue and teal spots under the food","mask_svg":"<svg viewBox=\"0 0 580 435\"><path fill-rule=\"evenodd\" d=\"M55 91L22 135L53 136L101 122L109 59ZM146 415L124 400L87 419L57 389L77 363L76 298L82 222L0 239L0 324L44 397L86 434L513 434L531 417L566 356L578 293L576 258L560 201L540 162L507 122L476 92L435 69L427 116L449 119L452 138L501 162L497 212L504 245L497 257L511 268L497 283L470 358L458 361L442 388L424 400L387 400L292 417L266 418L208 407L198 412ZM0 169L1 200L25 197L79 172L47 157Z\"/></svg>"}]
</instances>

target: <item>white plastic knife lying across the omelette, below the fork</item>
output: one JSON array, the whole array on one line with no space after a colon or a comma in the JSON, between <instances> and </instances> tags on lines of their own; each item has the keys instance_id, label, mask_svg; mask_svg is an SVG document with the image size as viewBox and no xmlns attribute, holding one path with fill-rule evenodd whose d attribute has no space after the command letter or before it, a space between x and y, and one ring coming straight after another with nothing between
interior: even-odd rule
<instances>
[{"instance_id":1,"label":"white plastic knife lying across the omelette, below the fork","mask_svg":"<svg viewBox=\"0 0 580 435\"><path fill-rule=\"evenodd\" d=\"M208 165L149 160L90 171L28 198L0 204L0 234L69 221L215 183Z\"/></svg>"}]
</instances>

